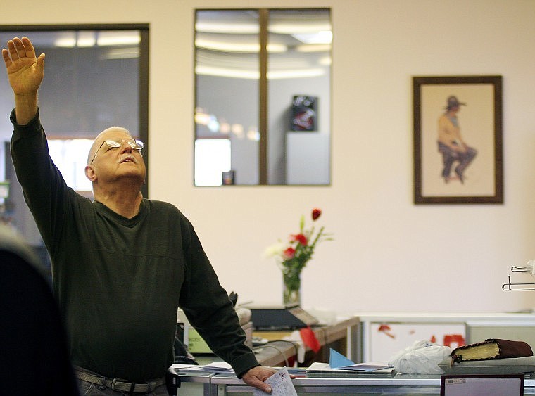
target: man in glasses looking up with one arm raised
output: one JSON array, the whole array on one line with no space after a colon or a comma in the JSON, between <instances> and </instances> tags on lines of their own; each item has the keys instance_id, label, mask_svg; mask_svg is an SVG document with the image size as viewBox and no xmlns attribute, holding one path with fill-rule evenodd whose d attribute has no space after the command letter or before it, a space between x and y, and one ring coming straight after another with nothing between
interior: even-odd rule
<instances>
[{"instance_id":1,"label":"man in glasses looking up with one arm raised","mask_svg":"<svg viewBox=\"0 0 535 396\"><path fill-rule=\"evenodd\" d=\"M53 164L39 121L44 54L15 37L2 57L15 95L13 163L51 257L82 394L167 395L178 307L237 376L270 392L264 381L275 371L245 345L193 226L170 203L141 195L143 143L119 127L96 136L85 167L94 200L80 196Z\"/></svg>"}]
</instances>

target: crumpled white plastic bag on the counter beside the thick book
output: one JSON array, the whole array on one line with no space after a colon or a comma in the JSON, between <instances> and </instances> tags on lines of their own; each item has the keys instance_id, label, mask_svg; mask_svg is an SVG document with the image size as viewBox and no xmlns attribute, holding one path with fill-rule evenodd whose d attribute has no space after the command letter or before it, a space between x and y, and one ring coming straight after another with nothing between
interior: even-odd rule
<instances>
[{"instance_id":1,"label":"crumpled white plastic bag on the counter beside the thick book","mask_svg":"<svg viewBox=\"0 0 535 396\"><path fill-rule=\"evenodd\" d=\"M398 373L443 374L439 363L450 354L451 347L420 340L397 352L389 359L389 364L394 366Z\"/></svg>"}]
</instances>

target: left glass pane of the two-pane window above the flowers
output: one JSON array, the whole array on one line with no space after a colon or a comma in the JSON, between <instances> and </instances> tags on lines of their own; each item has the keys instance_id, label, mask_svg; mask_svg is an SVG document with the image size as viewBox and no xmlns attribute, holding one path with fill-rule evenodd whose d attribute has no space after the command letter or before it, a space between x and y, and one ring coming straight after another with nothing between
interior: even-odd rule
<instances>
[{"instance_id":1,"label":"left glass pane of the two-pane window above the flowers","mask_svg":"<svg viewBox=\"0 0 535 396\"><path fill-rule=\"evenodd\" d=\"M257 11L196 11L196 142L229 141L234 184L259 180L258 32Z\"/></svg>"}]
</instances>

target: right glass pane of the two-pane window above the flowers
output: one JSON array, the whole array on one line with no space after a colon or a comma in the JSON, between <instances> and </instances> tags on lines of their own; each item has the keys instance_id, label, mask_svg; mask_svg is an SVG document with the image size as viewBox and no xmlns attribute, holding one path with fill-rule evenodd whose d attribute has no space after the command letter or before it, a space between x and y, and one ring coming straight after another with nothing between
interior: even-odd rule
<instances>
[{"instance_id":1,"label":"right glass pane of the two-pane window above the flowers","mask_svg":"<svg viewBox=\"0 0 535 396\"><path fill-rule=\"evenodd\" d=\"M270 10L268 184L330 183L330 10Z\"/></svg>"}]
</instances>

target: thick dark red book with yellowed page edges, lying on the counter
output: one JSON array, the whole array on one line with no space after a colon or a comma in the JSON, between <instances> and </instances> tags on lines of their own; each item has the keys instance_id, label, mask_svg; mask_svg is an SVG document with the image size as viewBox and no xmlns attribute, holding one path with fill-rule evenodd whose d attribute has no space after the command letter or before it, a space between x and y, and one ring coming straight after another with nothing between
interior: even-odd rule
<instances>
[{"instance_id":1,"label":"thick dark red book with yellowed page edges, lying on the counter","mask_svg":"<svg viewBox=\"0 0 535 396\"><path fill-rule=\"evenodd\" d=\"M482 343L456 347L451 352L451 364L470 360L503 359L533 356L531 347L524 341L489 338Z\"/></svg>"}]
</instances>

